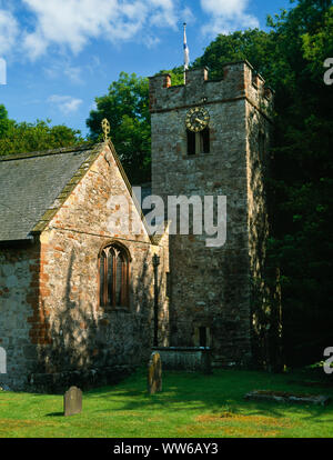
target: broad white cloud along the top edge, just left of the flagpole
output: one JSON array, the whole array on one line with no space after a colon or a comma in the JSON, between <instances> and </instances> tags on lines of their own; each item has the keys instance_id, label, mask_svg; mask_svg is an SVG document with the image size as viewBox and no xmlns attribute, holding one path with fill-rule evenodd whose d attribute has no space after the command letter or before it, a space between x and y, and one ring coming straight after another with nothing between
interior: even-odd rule
<instances>
[{"instance_id":1,"label":"broad white cloud along the top edge, just left of the flagpole","mask_svg":"<svg viewBox=\"0 0 333 460\"><path fill-rule=\"evenodd\" d=\"M34 30L23 36L31 59L44 54L52 44L80 52L91 39L112 42L157 40L150 28L176 28L179 0L22 0L34 16ZM188 14L190 10L186 9Z\"/></svg>"}]
</instances>

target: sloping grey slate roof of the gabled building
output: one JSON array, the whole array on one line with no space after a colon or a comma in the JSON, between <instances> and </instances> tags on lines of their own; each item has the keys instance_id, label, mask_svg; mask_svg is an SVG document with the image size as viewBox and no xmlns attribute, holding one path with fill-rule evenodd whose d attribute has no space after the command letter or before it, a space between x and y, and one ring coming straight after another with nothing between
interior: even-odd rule
<instances>
[{"instance_id":1,"label":"sloping grey slate roof of the gabled building","mask_svg":"<svg viewBox=\"0 0 333 460\"><path fill-rule=\"evenodd\" d=\"M27 240L42 231L102 148L0 157L0 241Z\"/></svg>"}]
</instances>

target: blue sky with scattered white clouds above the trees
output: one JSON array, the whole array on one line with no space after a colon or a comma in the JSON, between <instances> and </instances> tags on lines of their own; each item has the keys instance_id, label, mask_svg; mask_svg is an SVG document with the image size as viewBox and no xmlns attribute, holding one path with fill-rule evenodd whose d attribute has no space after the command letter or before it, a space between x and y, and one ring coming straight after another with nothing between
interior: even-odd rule
<instances>
[{"instance_id":1,"label":"blue sky with scattered white clouds above the trees","mask_svg":"<svg viewBox=\"0 0 333 460\"><path fill-rule=\"evenodd\" d=\"M289 0L0 0L0 103L18 121L52 120L87 133L94 98L123 70L149 77L183 63L218 33L265 29ZM111 128L112 129L112 128Z\"/></svg>"}]
</instances>

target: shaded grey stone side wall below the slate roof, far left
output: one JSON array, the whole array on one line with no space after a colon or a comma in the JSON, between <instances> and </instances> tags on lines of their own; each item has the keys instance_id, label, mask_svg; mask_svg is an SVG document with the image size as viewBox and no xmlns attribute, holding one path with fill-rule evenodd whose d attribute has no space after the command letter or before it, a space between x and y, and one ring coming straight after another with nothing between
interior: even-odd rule
<instances>
[{"instance_id":1,"label":"shaded grey stone side wall below the slate roof, far left","mask_svg":"<svg viewBox=\"0 0 333 460\"><path fill-rule=\"evenodd\" d=\"M37 361L31 341L31 317L38 299L39 246L0 247L0 347L7 353L7 373L0 387L22 388Z\"/></svg>"}]
</instances>

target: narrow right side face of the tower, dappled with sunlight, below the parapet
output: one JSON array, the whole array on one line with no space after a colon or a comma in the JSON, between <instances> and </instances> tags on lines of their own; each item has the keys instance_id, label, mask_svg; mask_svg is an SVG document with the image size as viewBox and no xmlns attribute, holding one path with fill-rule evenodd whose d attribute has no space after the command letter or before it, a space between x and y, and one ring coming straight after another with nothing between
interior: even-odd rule
<instances>
[{"instance_id":1,"label":"narrow right side face of the tower, dappled with sunlight, below the parapet","mask_svg":"<svg viewBox=\"0 0 333 460\"><path fill-rule=\"evenodd\" d=\"M279 272L268 269L266 244L270 234L266 179L270 174L272 124L250 103L248 119L248 201L251 273L251 321L255 362L278 369L281 360L281 298ZM262 137L261 141L259 138ZM270 271L269 271L270 270Z\"/></svg>"}]
</instances>

